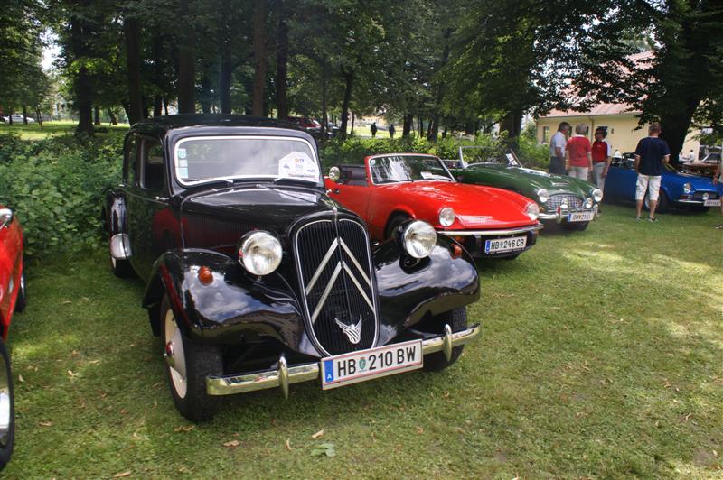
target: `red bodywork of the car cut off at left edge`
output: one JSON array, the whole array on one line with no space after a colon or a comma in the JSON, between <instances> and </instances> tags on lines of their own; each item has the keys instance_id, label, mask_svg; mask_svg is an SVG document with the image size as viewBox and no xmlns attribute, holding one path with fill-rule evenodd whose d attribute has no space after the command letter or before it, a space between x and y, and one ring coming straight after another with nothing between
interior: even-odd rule
<instances>
[{"instance_id":1,"label":"red bodywork of the car cut off at left edge","mask_svg":"<svg viewBox=\"0 0 723 480\"><path fill-rule=\"evenodd\" d=\"M22 274L23 227L14 217L10 224L0 229L0 327L3 339L7 338L7 331L13 318ZM11 280L13 291L8 292Z\"/></svg>"}]
</instances>

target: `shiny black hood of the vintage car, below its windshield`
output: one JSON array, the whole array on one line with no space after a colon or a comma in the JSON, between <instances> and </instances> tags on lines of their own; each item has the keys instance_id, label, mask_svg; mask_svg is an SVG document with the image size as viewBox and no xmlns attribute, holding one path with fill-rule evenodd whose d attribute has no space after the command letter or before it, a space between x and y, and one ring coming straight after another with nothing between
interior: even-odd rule
<instances>
[{"instance_id":1,"label":"shiny black hood of the vintage car, below its windshield","mask_svg":"<svg viewBox=\"0 0 723 480\"><path fill-rule=\"evenodd\" d=\"M220 230L232 231L237 240L251 230L268 230L287 238L298 218L333 212L334 208L346 211L320 190L254 186L187 198L183 217L195 219L193 223L226 224L229 227Z\"/></svg>"}]
</instances>

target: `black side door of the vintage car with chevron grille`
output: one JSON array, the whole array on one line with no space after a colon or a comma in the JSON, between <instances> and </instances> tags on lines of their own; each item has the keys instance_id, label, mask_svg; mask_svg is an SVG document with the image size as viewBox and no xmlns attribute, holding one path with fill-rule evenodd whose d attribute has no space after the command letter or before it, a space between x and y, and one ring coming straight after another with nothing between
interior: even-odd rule
<instances>
[{"instance_id":1,"label":"black side door of the vintage car with chevron grille","mask_svg":"<svg viewBox=\"0 0 723 480\"><path fill-rule=\"evenodd\" d=\"M144 280L155 260L164 252L164 232L157 219L170 211L163 147L157 138L134 136L128 158L130 185L127 188L127 228L133 269ZM135 169L131 166L135 166Z\"/></svg>"}]
</instances>

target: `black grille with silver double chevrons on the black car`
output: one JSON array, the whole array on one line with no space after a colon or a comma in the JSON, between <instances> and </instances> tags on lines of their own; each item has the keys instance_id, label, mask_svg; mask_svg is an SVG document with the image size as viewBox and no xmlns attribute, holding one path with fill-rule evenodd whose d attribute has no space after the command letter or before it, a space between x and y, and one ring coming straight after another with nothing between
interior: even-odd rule
<instances>
[{"instance_id":1,"label":"black grille with silver double chevrons on the black car","mask_svg":"<svg viewBox=\"0 0 723 480\"><path fill-rule=\"evenodd\" d=\"M296 231L294 246L306 326L316 346L324 355L375 346L376 291L364 227L350 219L316 220Z\"/></svg>"}]
</instances>

